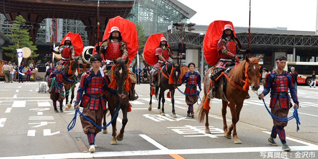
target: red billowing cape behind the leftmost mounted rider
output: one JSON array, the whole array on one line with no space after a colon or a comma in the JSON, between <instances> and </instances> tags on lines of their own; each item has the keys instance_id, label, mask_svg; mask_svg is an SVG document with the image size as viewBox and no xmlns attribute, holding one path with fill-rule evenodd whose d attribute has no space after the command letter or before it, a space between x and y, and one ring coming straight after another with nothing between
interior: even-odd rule
<instances>
[{"instance_id":1,"label":"red billowing cape behind the leftmost mounted rider","mask_svg":"<svg viewBox=\"0 0 318 159\"><path fill-rule=\"evenodd\" d=\"M60 46L64 44L65 40L69 40L69 38L66 39L67 37L70 37L71 39L70 41L72 45L74 46L74 49L75 49L74 57L79 56L83 52L83 41L81 40L80 35L77 33L69 32L68 34L64 36L63 40L60 43Z\"/></svg>"}]
</instances>

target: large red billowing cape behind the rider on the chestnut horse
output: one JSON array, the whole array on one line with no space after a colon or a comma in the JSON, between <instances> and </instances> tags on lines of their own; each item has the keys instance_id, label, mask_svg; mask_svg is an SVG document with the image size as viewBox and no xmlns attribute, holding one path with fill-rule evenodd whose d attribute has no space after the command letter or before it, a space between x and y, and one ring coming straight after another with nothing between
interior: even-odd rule
<instances>
[{"instance_id":1,"label":"large red billowing cape behind the rider on the chestnut horse","mask_svg":"<svg viewBox=\"0 0 318 159\"><path fill-rule=\"evenodd\" d=\"M216 20L213 21L204 36L203 40L203 53L204 53L204 60L209 65L216 65L219 61L219 54L217 50L218 41L222 36L224 31L224 26L226 24L230 24L233 28L233 33L235 35L234 26L231 21L223 21L223 20Z\"/></svg>"}]
</instances>

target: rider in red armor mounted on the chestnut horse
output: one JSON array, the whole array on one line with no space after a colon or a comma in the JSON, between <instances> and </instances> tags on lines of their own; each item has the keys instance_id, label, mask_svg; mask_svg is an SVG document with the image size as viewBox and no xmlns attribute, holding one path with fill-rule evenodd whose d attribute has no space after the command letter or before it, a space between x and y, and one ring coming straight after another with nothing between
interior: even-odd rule
<instances>
[{"instance_id":1,"label":"rider in red armor mounted on the chestnut horse","mask_svg":"<svg viewBox=\"0 0 318 159\"><path fill-rule=\"evenodd\" d=\"M214 87L215 82L221 73L225 70L227 63L232 63L232 61L239 62L239 58L236 56L237 54L250 53L250 49L242 50L241 45L239 43L239 39L234 36L232 26L230 24L226 24L224 26L224 31L222 33L221 38L218 41L217 50L219 52L219 62L215 66L215 69L210 76L212 79L212 97L215 97Z\"/></svg>"}]
</instances>

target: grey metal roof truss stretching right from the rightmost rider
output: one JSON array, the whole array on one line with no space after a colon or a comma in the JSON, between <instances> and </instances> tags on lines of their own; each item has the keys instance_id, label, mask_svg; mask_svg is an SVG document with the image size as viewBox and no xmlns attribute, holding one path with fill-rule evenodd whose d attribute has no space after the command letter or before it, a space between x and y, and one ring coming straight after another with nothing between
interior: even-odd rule
<instances>
[{"instance_id":1,"label":"grey metal roof truss stretching right from the rightmost rider","mask_svg":"<svg viewBox=\"0 0 318 159\"><path fill-rule=\"evenodd\" d=\"M248 33L236 34L243 46L248 45ZM258 49L318 49L317 35L251 33L250 45Z\"/></svg>"}]
</instances>

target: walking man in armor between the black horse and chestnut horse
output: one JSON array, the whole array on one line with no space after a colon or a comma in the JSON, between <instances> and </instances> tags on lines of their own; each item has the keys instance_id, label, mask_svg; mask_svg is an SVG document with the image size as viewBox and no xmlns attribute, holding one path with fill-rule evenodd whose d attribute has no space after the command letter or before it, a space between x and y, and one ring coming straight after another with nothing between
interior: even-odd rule
<instances>
[{"instance_id":1,"label":"walking man in armor between the black horse and chestnut horse","mask_svg":"<svg viewBox=\"0 0 318 159\"><path fill-rule=\"evenodd\" d=\"M198 101L198 94L194 94L197 92L197 85L199 86L200 91L201 89L201 77L200 75L194 71L195 64L190 63L188 64L188 68L190 71L186 72L181 79L181 83L179 86L186 80L185 85L185 102L188 105L188 116L194 118L193 112L193 104ZM194 94L194 95L192 95Z\"/></svg>"}]
</instances>

